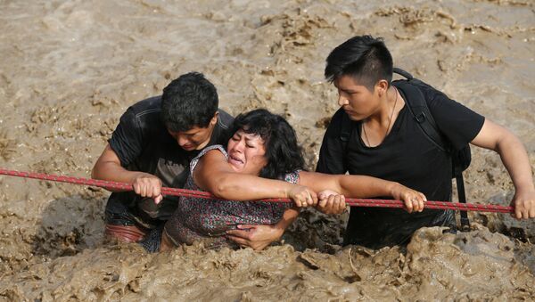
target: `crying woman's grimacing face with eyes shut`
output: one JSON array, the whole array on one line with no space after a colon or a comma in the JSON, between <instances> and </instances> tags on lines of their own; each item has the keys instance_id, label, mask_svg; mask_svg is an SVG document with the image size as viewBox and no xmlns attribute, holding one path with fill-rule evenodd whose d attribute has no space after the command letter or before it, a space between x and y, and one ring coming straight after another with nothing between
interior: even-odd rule
<instances>
[{"instance_id":1,"label":"crying woman's grimacing face with eyes shut","mask_svg":"<svg viewBox=\"0 0 535 302\"><path fill-rule=\"evenodd\" d=\"M228 163L238 173L259 175L260 170L268 164L266 146L260 135L236 131L226 146Z\"/></svg>"}]
</instances>

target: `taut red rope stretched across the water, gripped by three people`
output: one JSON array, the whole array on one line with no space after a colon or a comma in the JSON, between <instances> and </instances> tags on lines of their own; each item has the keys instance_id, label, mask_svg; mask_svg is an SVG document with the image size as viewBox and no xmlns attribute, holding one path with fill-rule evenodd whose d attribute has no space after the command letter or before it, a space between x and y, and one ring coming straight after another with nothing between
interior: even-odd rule
<instances>
[{"instance_id":1,"label":"taut red rope stretched across the water, gripped by three people","mask_svg":"<svg viewBox=\"0 0 535 302\"><path fill-rule=\"evenodd\" d=\"M86 184L105 189L119 189L125 191L133 191L132 184L103 181L98 179L89 179L83 177L73 177L65 175L48 175L44 173L33 172L21 172L7 170L0 168L0 175L18 176L24 178L34 178L41 180L48 180L52 182L68 183L68 184ZM216 196L209 192L167 188L162 187L161 193L171 196L186 196L186 197L198 197L210 200L219 200ZM268 202L292 202L288 199L267 199L261 201ZM403 201L401 200L371 200L371 199L351 199L347 198L346 203L351 207L374 207L374 208L405 208ZM483 205L473 203L458 203L449 201L426 201L425 208L436 209L455 209L460 211L478 211L478 212L495 212L495 213L514 213L513 207L497 206L497 205Z\"/></svg>"}]
</instances>

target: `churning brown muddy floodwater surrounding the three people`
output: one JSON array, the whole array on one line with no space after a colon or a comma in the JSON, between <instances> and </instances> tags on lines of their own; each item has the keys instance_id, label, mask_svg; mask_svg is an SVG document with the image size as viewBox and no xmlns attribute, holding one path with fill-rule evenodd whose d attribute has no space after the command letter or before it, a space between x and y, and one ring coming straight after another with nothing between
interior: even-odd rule
<instances>
[{"instance_id":1,"label":"churning brown muddy floodwater surrounding the three people","mask_svg":"<svg viewBox=\"0 0 535 302\"><path fill-rule=\"evenodd\" d=\"M0 0L0 167L87 177L120 114L197 70L221 107L296 127L309 168L337 109L325 57L384 37L395 64L518 135L535 167L535 4L518 1ZM508 204L473 150L471 202ZM474 215L407 249L341 248L346 216L302 214L261 252L103 243L98 188L0 176L0 300L534 300L535 223Z\"/></svg>"}]
</instances>

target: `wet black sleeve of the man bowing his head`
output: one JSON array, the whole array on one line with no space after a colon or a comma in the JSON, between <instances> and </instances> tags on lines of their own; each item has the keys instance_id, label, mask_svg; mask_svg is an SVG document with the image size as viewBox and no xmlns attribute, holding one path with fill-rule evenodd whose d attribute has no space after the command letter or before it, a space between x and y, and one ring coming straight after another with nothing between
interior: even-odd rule
<instances>
[{"instance_id":1,"label":"wet black sleeve of the man bowing his head","mask_svg":"<svg viewBox=\"0 0 535 302\"><path fill-rule=\"evenodd\" d=\"M111 134L108 143L119 157L121 166L127 167L141 155L143 139L144 135L136 118L136 112L130 107L120 117L119 125Z\"/></svg>"}]
</instances>

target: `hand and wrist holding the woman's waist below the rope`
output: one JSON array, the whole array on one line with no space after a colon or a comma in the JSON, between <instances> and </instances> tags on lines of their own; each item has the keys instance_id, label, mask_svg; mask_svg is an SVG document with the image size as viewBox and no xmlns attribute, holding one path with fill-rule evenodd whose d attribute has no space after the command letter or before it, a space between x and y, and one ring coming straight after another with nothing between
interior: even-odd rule
<instances>
[{"instance_id":1,"label":"hand and wrist holding the woman's waist below the rope","mask_svg":"<svg viewBox=\"0 0 535 302\"><path fill-rule=\"evenodd\" d=\"M283 218L276 224L240 224L237 230L226 231L226 237L242 247L250 247L254 250L264 249L271 242L279 241L297 216L299 216L299 208L288 208L284 211Z\"/></svg>"}]
</instances>

